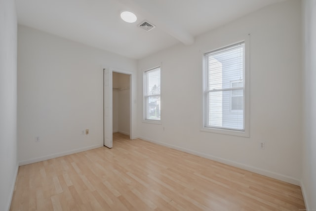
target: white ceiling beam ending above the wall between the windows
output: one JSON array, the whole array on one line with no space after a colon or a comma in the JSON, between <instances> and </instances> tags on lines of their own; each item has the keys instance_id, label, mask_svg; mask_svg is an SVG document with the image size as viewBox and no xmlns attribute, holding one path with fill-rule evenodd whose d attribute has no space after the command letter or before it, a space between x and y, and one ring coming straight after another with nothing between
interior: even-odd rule
<instances>
[{"instance_id":1,"label":"white ceiling beam ending above the wall between the windows","mask_svg":"<svg viewBox=\"0 0 316 211\"><path fill-rule=\"evenodd\" d=\"M146 20L156 25L178 41L184 44L193 44L194 37L185 31L178 23L175 23L172 17L166 16L163 11L155 6L155 1L151 0L118 0L130 10L146 17Z\"/></svg>"}]
</instances>

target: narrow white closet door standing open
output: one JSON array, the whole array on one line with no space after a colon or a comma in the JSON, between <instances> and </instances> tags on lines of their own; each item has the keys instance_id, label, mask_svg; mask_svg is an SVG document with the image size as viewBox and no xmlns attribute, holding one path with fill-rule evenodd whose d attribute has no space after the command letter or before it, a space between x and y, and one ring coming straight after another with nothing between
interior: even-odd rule
<instances>
[{"instance_id":1,"label":"narrow white closet door standing open","mask_svg":"<svg viewBox=\"0 0 316 211\"><path fill-rule=\"evenodd\" d=\"M104 146L112 148L112 69L106 68L103 70L103 121L104 121Z\"/></svg>"}]
</instances>

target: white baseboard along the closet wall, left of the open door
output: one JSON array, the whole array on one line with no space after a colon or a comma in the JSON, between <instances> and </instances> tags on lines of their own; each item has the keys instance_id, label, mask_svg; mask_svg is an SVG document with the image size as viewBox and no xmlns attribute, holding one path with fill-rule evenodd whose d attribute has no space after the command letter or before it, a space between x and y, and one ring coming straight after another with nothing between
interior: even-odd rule
<instances>
[{"instance_id":1,"label":"white baseboard along the closet wall, left of the open door","mask_svg":"<svg viewBox=\"0 0 316 211\"><path fill-rule=\"evenodd\" d=\"M37 162L40 162L40 161L46 161L46 160L49 160L49 159L58 158L58 157L62 157L62 156L65 156L65 155L71 155L71 154L74 154L74 153L83 152L83 151L86 151L86 150L95 149L95 148L102 147L102 146L103 146L103 143L92 145L92 146L88 146L88 147L83 147L83 148L79 148L79 149L75 149L75 150L65 151L65 152L61 152L61 153L56 153L56 154L52 154L52 155L46 155L46 156L39 157L39 158L33 158L33 159L30 159L30 160L26 160L26 161L20 161L19 162L19 166L23 166L23 165L27 165L27 164L33 164L33 163L37 163Z\"/></svg>"}]
</instances>

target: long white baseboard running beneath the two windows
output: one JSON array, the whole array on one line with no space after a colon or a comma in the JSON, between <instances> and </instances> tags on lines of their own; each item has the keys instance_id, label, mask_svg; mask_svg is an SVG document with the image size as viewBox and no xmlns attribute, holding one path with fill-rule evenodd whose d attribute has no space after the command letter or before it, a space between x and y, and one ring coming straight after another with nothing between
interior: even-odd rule
<instances>
[{"instance_id":1,"label":"long white baseboard running beneath the two windows","mask_svg":"<svg viewBox=\"0 0 316 211\"><path fill-rule=\"evenodd\" d=\"M240 168L240 169L249 170L251 172L258 173L258 174L261 174L261 175L264 175L264 176L269 176L271 178L278 179L278 180L281 180L281 181L284 181L284 182L288 182L288 183L291 183L291 184L294 184L294 185L298 185L298 186L301 185L300 180L295 179L295 178L290 177L290 176L286 176L286 175L279 174L279 173L276 173L276 172L272 172L272 171L269 171L269 170L264 170L264 169L259 169L259 168L256 168L256 167L251 167L251 166L248 166L248 165L237 163L235 161L231 161L231 160L228 160L228 159L215 157L215 156L212 156L212 155L208 155L208 154L204 154L204 153L197 152L197 151L194 151L194 150L178 147L178 146L175 146L175 145L158 142L158 141L146 138L146 137L138 136L138 138L143 139L145 141L153 142L153 143L156 143L156 144L159 144L159 145L162 145L162 146L166 146L166 147L169 147L169 148L172 148L172 149L176 149L176 150L180 150L180 151L183 151L183 152L187 152L189 154L197 155L197 156L200 156L202 158L206 158L206 159L209 159L209 160L213 160L213 161L217 161L217 162L220 162L220 163L223 163L223 164L234 166L234 167L237 167L237 168Z\"/></svg>"}]
</instances>

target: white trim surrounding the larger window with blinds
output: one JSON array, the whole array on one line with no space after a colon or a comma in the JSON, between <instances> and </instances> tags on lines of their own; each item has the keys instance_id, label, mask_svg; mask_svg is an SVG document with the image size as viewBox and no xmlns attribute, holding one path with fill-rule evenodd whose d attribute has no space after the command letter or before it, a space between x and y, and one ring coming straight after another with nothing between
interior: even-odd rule
<instances>
[{"instance_id":1,"label":"white trim surrounding the larger window with blinds","mask_svg":"<svg viewBox=\"0 0 316 211\"><path fill-rule=\"evenodd\" d=\"M231 45L244 42L245 43L245 111L244 111L244 124L245 128L244 131L238 131L238 130L230 130L230 129L223 129L223 128L210 128L210 127L204 127L204 122L205 122L205 103L204 103L204 88L205 88L205 83L207 83L207 73L205 71L205 61L204 61L204 53L210 52L210 51L215 51L218 49L222 49L225 47L229 47ZM211 133L219 133L219 134L225 134L225 135L234 135L234 136L241 136L241 137L250 137L250 34L248 34L244 40L238 41L235 43L231 43L226 46L221 46L213 50L209 50L207 52L204 52L202 54L203 58L203 66L202 66L202 74L203 74L203 84L202 84L202 121L200 123L200 131L203 132L211 132Z\"/></svg>"}]
</instances>

